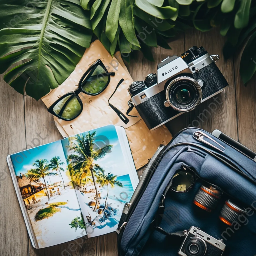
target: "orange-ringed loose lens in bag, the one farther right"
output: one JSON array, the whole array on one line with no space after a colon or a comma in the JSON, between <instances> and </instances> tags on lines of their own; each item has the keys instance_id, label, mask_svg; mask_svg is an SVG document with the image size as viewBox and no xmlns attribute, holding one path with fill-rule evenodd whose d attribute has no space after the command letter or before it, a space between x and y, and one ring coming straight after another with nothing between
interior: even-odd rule
<instances>
[{"instance_id":1,"label":"orange-ringed loose lens in bag, the one farther right","mask_svg":"<svg viewBox=\"0 0 256 256\"><path fill-rule=\"evenodd\" d=\"M237 221L241 214L246 213L246 209L237 206L231 200L227 200L220 212L220 220L229 226L232 226L234 221Z\"/></svg>"}]
</instances>

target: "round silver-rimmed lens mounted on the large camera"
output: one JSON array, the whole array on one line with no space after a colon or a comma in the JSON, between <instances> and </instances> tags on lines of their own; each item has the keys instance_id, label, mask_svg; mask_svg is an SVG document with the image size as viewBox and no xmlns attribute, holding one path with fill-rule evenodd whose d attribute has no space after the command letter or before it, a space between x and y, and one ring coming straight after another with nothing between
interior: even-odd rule
<instances>
[{"instance_id":1,"label":"round silver-rimmed lens mounted on the large camera","mask_svg":"<svg viewBox=\"0 0 256 256\"><path fill-rule=\"evenodd\" d=\"M177 77L166 88L166 100L177 111L188 112L202 100L202 89L191 77Z\"/></svg>"}]
</instances>

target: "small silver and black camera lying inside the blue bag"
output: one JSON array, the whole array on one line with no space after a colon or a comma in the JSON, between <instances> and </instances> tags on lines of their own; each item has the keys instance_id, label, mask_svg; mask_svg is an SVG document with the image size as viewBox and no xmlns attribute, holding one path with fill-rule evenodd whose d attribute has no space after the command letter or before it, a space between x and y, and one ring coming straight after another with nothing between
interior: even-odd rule
<instances>
[{"instance_id":1,"label":"small silver and black camera lying inside the blue bag","mask_svg":"<svg viewBox=\"0 0 256 256\"><path fill-rule=\"evenodd\" d=\"M226 245L222 240L209 236L192 226L183 241L178 254L181 256L221 256Z\"/></svg>"}]
</instances>

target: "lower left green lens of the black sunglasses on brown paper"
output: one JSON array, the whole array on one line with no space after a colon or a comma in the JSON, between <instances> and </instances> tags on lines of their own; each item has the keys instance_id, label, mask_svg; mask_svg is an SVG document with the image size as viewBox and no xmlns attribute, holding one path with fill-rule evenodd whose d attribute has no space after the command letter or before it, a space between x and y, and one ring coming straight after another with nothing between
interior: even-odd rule
<instances>
[{"instance_id":1,"label":"lower left green lens of the black sunglasses on brown paper","mask_svg":"<svg viewBox=\"0 0 256 256\"><path fill-rule=\"evenodd\" d=\"M56 103L53 111L64 119L72 119L81 113L81 105L77 97L69 95Z\"/></svg>"}]
</instances>

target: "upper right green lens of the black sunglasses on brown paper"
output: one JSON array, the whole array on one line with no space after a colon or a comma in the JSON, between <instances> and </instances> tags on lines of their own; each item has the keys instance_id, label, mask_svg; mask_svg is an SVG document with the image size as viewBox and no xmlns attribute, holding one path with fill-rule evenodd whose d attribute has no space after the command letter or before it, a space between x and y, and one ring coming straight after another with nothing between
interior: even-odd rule
<instances>
[{"instance_id":1,"label":"upper right green lens of the black sunglasses on brown paper","mask_svg":"<svg viewBox=\"0 0 256 256\"><path fill-rule=\"evenodd\" d=\"M101 66L91 70L82 81L82 89L91 94L99 94L104 90L109 81L109 76Z\"/></svg>"}]
</instances>

